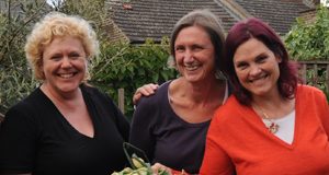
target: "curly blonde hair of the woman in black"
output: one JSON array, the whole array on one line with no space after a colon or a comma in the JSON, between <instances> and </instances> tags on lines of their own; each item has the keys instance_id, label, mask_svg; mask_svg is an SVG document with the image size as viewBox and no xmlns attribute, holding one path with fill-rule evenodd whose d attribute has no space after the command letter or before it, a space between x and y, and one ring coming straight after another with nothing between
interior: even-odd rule
<instances>
[{"instance_id":1,"label":"curly blonde hair of the woman in black","mask_svg":"<svg viewBox=\"0 0 329 175\"><path fill-rule=\"evenodd\" d=\"M84 48L87 60L99 55L97 34L86 20L75 15L50 12L34 25L25 44L26 59L37 80L45 80L42 70L44 49L58 36L72 36L79 38ZM88 71L86 73L86 79L87 77L89 77Z\"/></svg>"}]
</instances>

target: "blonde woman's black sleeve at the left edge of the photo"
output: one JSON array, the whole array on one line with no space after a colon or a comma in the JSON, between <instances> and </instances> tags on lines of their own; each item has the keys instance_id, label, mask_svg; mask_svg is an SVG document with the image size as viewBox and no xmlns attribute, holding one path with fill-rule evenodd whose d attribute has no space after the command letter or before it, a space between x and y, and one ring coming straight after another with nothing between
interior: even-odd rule
<instances>
[{"instance_id":1,"label":"blonde woman's black sleeve at the left edge of the photo","mask_svg":"<svg viewBox=\"0 0 329 175\"><path fill-rule=\"evenodd\" d=\"M13 107L0 128L0 174L31 173L35 162L37 126L33 113Z\"/></svg>"}]
</instances>

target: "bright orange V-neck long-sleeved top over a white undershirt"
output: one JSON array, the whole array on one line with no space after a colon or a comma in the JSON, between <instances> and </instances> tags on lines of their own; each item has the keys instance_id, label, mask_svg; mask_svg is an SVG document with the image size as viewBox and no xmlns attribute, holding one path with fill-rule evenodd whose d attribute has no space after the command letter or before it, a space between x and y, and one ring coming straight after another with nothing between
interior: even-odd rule
<instances>
[{"instance_id":1,"label":"bright orange V-neck long-sleeved top over a white undershirt","mask_svg":"<svg viewBox=\"0 0 329 175\"><path fill-rule=\"evenodd\" d=\"M298 85L295 131L288 144L231 95L207 132L202 175L329 175L329 107L320 90Z\"/></svg>"}]
</instances>

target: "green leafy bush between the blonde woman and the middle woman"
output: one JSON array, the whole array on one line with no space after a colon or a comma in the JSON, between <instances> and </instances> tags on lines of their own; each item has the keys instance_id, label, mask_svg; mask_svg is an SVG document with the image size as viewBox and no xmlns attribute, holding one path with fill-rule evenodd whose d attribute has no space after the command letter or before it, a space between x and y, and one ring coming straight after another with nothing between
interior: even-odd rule
<instances>
[{"instance_id":1,"label":"green leafy bush between the blonde woman and the middle woman","mask_svg":"<svg viewBox=\"0 0 329 175\"><path fill-rule=\"evenodd\" d=\"M155 44L147 39L145 44L132 46L126 43L102 42L101 56L91 61L92 84L98 84L117 102L117 89L125 89L126 116L132 117L132 98L136 89L146 83L162 83L177 75L169 68L168 40ZM107 84L107 85L100 85Z\"/></svg>"}]
</instances>

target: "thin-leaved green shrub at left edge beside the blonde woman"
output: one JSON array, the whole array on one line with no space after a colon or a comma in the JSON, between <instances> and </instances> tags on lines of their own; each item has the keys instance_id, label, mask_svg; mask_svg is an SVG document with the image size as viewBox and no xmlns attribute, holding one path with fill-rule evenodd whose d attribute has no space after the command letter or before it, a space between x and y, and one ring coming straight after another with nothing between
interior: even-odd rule
<instances>
[{"instance_id":1,"label":"thin-leaved green shrub at left edge beside the blonde woman","mask_svg":"<svg viewBox=\"0 0 329 175\"><path fill-rule=\"evenodd\" d=\"M47 10L45 2L4 1L0 11L0 113L25 97L37 82L32 78L24 55L31 25Z\"/></svg>"}]
</instances>

